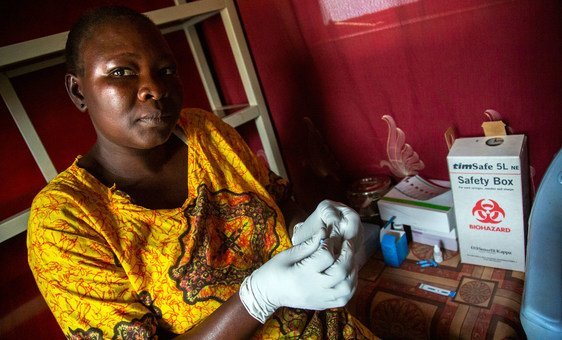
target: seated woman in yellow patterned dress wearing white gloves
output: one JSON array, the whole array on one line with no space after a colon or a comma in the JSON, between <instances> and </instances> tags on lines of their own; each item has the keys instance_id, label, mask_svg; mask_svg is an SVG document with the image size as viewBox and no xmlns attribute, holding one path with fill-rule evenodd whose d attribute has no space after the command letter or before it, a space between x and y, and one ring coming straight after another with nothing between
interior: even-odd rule
<instances>
[{"instance_id":1,"label":"seated woman in yellow patterned dress wearing white gloves","mask_svg":"<svg viewBox=\"0 0 562 340\"><path fill-rule=\"evenodd\" d=\"M35 198L28 250L67 337L371 336L331 309L355 289L357 214L322 202L291 243L286 181L214 115L181 111L148 18L96 10L66 53L68 94L97 140Z\"/></svg>"}]
</instances>

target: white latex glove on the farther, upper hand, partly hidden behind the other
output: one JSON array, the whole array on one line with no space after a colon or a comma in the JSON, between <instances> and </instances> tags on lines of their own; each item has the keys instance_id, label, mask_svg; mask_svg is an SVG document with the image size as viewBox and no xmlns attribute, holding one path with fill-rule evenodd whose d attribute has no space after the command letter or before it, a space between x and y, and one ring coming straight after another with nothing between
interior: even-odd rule
<instances>
[{"instance_id":1,"label":"white latex glove on the farther, upper hand, partly hidden behind the other","mask_svg":"<svg viewBox=\"0 0 562 340\"><path fill-rule=\"evenodd\" d=\"M320 202L304 222L295 225L291 241L293 245L300 244L326 226L331 230L330 238L336 243L336 252L339 248L338 240L350 241L354 251L361 246L363 224L359 214L342 203L330 200Z\"/></svg>"}]
</instances>

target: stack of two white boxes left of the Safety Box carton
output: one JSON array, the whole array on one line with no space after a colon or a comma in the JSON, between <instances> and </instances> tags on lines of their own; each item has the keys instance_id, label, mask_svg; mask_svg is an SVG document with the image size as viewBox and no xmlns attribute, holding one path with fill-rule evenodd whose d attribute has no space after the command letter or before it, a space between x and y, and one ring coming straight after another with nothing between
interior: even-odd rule
<instances>
[{"instance_id":1,"label":"stack of two white boxes left of the Safety Box carton","mask_svg":"<svg viewBox=\"0 0 562 340\"><path fill-rule=\"evenodd\" d=\"M421 176L404 178L378 201L381 219L409 226L414 242L458 250L449 182Z\"/></svg>"}]
</instances>

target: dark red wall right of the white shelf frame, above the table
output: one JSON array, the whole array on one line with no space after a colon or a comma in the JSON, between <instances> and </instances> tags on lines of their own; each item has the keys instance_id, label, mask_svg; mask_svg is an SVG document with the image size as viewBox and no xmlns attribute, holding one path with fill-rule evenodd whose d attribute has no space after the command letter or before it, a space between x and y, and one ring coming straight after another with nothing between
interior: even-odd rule
<instances>
[{"instance_id":1,"label":"dark red wall right of the white shelf frame, above the table","mask_svg":"<svg viewBox=\"0 0 562 340\"><path fill-rule=\"evenodd\" d=\"M483 113L495 109L528 136L538 185L562 144L560 2L428 0L325 23L329 2L239 1L301 197L310 189L303 115L348 178L387 172L379 163L389 114L426 164L422 174L448 179L447 127L482 135Z\"/></svg>"}]
</instances>

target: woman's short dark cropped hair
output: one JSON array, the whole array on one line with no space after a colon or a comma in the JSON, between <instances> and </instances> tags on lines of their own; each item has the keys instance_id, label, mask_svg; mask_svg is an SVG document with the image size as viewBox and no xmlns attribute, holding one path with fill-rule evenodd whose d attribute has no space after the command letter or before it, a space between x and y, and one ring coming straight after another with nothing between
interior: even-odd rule
<instances>
[{"instance_id":1,"label":"woman's short dark cropped hair","mask_svg":"<svg viewBox=\"0 0 562 340\"><path fill-rule=\"evenodd\" d=\"M91 37L97 27L122 20L156 27L154 22L144 14L123 6L100 7L84 14L68 33L65 47L67 72L82 75L84 72L80 53L82 42Z\"/></svg>"}]
</instances>

